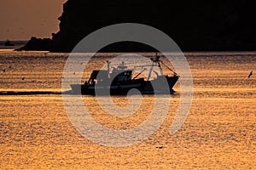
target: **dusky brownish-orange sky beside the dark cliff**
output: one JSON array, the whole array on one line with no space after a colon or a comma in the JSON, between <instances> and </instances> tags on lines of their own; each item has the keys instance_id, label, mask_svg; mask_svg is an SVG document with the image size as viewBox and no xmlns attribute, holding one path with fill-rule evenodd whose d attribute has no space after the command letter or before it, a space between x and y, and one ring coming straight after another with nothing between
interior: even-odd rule
<instances>
[{"instance_id":1,"label":"dusky brownish-orange sky beside the dark cliff","mask_svg":"<svg viewBox=\"0 0 256 170\"><path fill-rule=\"evenodd\" d=\"M51 37L67 0L0 0L0 41Z\"/></svg>"}]
</instances>

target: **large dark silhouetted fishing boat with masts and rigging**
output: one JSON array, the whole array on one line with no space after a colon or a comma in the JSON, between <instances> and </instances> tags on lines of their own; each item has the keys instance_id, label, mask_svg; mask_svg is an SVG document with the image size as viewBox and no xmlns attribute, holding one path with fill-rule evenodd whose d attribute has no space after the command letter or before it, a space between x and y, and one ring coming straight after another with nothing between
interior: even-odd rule
<instances>
[{"instance_id":1,"label":"large dark silhouetted fishing boat with masts and rigging","mask_svg":"<svg viewBox=\"0 0 256 170\"><path fill-rule=\"evenodd\" d=\"M110 95L124 95L127 94L131 89L137 89L141 94L174 94L175 91L172 89L177 82L179 76L175 71L172 71L167 65L165 65L159 56L150 58L152 61L151 65L138 65L141 71L134 74L134 69L128 69L124 62L117 67L110 67L111 62L108 63L108 70L95 70L90 74L88 81L84 84L71 84L71 88L74 94L110 94ZM166 66L167 69L173 72L172 76L164 75L162 71L162 65ZM144 71L148 71L148 77L139 77ZM158 67L160 73L154 71L154 68ZM113 68L111 70L111 68ZM150 80L152 74L155 74L155 78ZM162 86L161 83L167 84Z\"/></svg>"}]
</instances>

